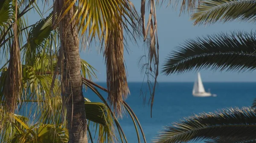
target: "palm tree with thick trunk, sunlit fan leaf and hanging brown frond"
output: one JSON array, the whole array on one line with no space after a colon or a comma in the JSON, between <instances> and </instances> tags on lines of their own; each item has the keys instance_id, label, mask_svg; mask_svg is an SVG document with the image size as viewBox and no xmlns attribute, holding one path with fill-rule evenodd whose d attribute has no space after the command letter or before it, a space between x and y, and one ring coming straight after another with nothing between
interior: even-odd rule
<instances>
[{"instance_id":1,"label":"palm tree with thick trunk, sunlit fan leaf and hanging brown frond","mask_svg":"<svg viewBox=\"0 0 256 143\"><path fill-rule=\"evenodd\" d=\"M108 9L108 10L107 10ZM111 12L108 12L111 11ZM137 12L129 0L90 1L55 0L53 27L58 26L61 48L59 64L70 143L87 143L87 122L82 94L79 31L89 41L98 38L105 46L108 99L117 115L122 115L122 100L129 94L123 61L123 29L136 32ZM128 23L128 24L127 24ZM63 57L62 57L63 56Z\"/></svg>"}]
</instances>

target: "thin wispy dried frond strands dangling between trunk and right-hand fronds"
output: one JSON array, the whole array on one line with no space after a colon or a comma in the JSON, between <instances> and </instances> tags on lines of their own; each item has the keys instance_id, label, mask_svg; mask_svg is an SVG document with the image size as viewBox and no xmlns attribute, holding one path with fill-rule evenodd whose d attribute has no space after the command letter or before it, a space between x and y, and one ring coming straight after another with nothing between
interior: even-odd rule
<instances>
[{"instance_id":1,"label":"thin wispy dried frond strands dangling between trunk and right-hand fronds","mask_svg":"<svg viewBox=\"0 0 256 143\"><path fill-rule=\"evenodd\" d=\"M158 2L158 0L157 0ZM159 44L157 37L157 15L156 15L156 5L155 0L149 0L150 13L148 17L148 23L145 28L145 0L141 0L141 18L142 18L142 31L144 36L144 42L148 45L148 56L146 57L145 75L148 77L148 87L150 88L150 99L151 99L151 117L152 117L152 107L154 102L154 93L157 83L158 76L158 65L159 65ZM153 69L152 69L153 67ZM153 77L153 84L151 83L150 77ZM151 90L152 88L152 90Z\"/></svg>"}]
</instances>

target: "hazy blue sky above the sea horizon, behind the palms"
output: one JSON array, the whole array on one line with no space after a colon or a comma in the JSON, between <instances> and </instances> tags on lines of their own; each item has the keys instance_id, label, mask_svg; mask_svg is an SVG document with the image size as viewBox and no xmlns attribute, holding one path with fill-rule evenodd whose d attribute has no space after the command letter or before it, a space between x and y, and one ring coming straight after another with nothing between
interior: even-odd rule
<instances>
[{"instance_id":1,"label":"hazy blue sky above the sea horizon, behind the palms","mask_svg":"<svg viewBox=\"0 0 256 143\"><path fill-rule=\"evenodd\" d=\"M140 12L140 0L131 0L137 11ZM196 36L206 36L207 34L215 34L219 32L230 32L230 31L251 31L253 29L253 23L249 22L227 22L225 24L216 23L212 25L197 25L193 26L192 21L189 18L189 14L183 14L179 17L179 11L169 6L166 8L167 3L163 6L157 6L157 22L158 22L158 36L160 42L160 70L162 68L164 59L168 56L175 46L184 42L186 39L193 39ZM148 12L148 11L147 11ZM30 13L28 15L29 21L36 22L39 20L38 14ZM31 21L32 18L33 20ZM147 20L147 18L146 18ZM143 55L143 42L139 41L139 47L129 42L129 54L125 51L125 63L128 71L128 81L142 81L143 75L140 73L138 67L138 59ZM96 68L99 72L97 73L98 81L106 81L106 70L105 61L102 53L99 53L99 48L94 46L89 49L82 50L81 58L86 60L89 64ZM189 72L184 74L174 74L171 76L164 76L160 74L158 81L169 81L169 82L184 82L194 81L195 72ZM209 70L201 70L201 77L203 81L214 81L214 82L255 82L256 71L246 73L236 72L213 72ZM94 79L94 81L96 81Z\"/></svg>"}]
</instances>

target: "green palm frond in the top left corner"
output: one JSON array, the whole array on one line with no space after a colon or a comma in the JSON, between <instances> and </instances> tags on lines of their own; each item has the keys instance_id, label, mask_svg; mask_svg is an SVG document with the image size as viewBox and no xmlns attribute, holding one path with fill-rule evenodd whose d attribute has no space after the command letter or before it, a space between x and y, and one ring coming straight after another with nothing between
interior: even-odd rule
<instances>
[{"instance_id":1,"label":"green palm frond in the top left corner","mask_svg":"<svg viewBox=\"0 0 256 143\"><path fill-rule=\"evenodd\" d=\"M12 26L15 23L15 0L1 0L0 2L0 53L3 58L8 59L9 48L12 45L14 31ZM18 41L21 44L23 42L23 36L26 35L24 30L28 29L30 26L26 25L26 20L24 15L32 9L31 5L35 0L31 0L26 6L24 6L24 0L18 0L17 7L17 29L18 31ZM8 18L8 20L7 20Z\"/></svg>"}]
</instances>

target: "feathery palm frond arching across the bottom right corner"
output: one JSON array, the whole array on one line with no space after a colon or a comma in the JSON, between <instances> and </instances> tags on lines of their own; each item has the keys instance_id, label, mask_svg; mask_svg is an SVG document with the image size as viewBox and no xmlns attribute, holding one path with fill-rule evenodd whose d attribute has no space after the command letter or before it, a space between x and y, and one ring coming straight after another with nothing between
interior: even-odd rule
<instances>
[{"instance_id":1,"label":"feathery palm frond arching across the bottom right corner","mask_svg":"<svg viewBox=\"0 0 256 143\"><path fill-rule=\"evenodd\" d=\"M256 133L254 109L223 109L215 113L201 113L185 118L160 132L157 143L187 143L218 137L246 137L254 140Z\"/></svg>"}]
</instances>

